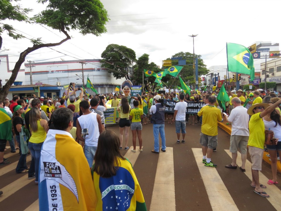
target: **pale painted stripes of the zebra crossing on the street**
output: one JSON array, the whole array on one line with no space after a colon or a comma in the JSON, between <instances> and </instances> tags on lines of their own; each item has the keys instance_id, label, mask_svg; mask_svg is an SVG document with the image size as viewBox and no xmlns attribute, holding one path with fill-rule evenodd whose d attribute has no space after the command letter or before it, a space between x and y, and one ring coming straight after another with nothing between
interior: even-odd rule
<instances>
[{"instance_id":1,"label":"pale painted stripes of the zebra crossing on the street","mask_svg":"<svg viewBox=\"0 0 281 211\"><path fill-rule=\"evenodd\" d=\"M131 149L132 147L130 147ZM138 148L138 147L137 147ZM131 162L132 166L135 165L136 161L139 159L140 156L143 156L143 152L139 152L138 150L136 152L131 152L131 150L128 150L125 154L125 157ZM145 149L144 149L145 150ZM208 199L210 202L210 210L213 211L221 211L221 210L233 210L237 211L239 210L239 205L237 204L237 200L233 199L233 194L231 194L229 191L229 186L225 183L224 179L222 178L218 167L217 168L211 168L206 167L202 164L202 149L201 148L191 148L191 152L194 156L194 161L196 162L196 166L198 168L198 171L200 172L200 176L202 178L202 182L205 187L205 191L208 195ZM178 210L177 204L176 204L176 196L181 194L179 192L176 192L175 190L175 172L174 172L174 153L175 149L173 147L167 147L166 152L159 153L159 157L155 155L154 153L151 154L145 154L146 156L151 156L152 159L155 159L155 157L158 158L157 160L157 169L155 173L155 181L153 184L153 190L152 190L152 197L150 204L147 204L147 209L151 211L160 211L160 210L169 210L169 211L175 211ZM229 150L223 150L220 153L225 153L231 158L231 153ZM5 154L6 158L13 158L13 156L16 156L12 153ZM237 158L237 165L241 166L241 159L240 154L238 152L238 158ZM12 160L12 159L11 159ZM15 160L15 159L13 159ZM27 162L31 161L31 156L27 156ZM7 177L7 175L10 175L11 172L15 172L15 168L17 165L17 161L12 162L11 164L7 166L2 166L0 168L0 182L3 180L3 178ZM243 179L249 180L249 186L252 180L252 174L251 174L251 162L249 160L246 161L246 172L240 172L240 176L243 176ZM224 168L224 167L223 167ZM225 169L223 169L225 170ZM227 169L227 171L233 171ZM235 171L235 170L234 170ZM237 171L238 172L238 171ZM149 173L149 172L148 172ZM232 172L231 172L232 173ZM246 175L246 176L244 176ZM25 186L28 186L31 182L34 182L34 180L29 180L27 178L27 173L24 174L18 174L16 175L17 178L13 181L11 181L9 184L2 185L0 183L0 190L4 192L3 195L0 196L0 208L1 210L9 210L6 207L4 207L4 204L7 205L9 202L13 200L13 195L16 194L18 191L21 191L20 189L24 188ZM139 176L137 175L137 178ZM263 173L259 173L260 183L266 184L268 179ZM269 186L269 185L268 185ZM144 190L147 188L145 185L141 185L141 188ZM243 187L241 187L242 189ZM270 206L272 206L275 210L281 210L281 190L276 187L275 185L272 185L270 187L266 188L266 192L270 195L270 198L262 198L260 197L260 200L267 200L270 203ZM33 191L26 194L33 194L35 197L30 198L30 201L26 203L24 207L17 207L17 210L25 210L25 211L37 211L39 210L39 203L38 203L38 192ZM37 198L36 198L37 197ZM144 196L145 197L145 196ZM253 193L253 197L255 197L255 194ZM146 200L146 199L145 199ZM202 207L201 207L202 208ZM201 209L198 209L201 210ZM240 208L241 210L241 208ZM251 210L251 209L249 209Z\"/></svg>"}]
</instances>

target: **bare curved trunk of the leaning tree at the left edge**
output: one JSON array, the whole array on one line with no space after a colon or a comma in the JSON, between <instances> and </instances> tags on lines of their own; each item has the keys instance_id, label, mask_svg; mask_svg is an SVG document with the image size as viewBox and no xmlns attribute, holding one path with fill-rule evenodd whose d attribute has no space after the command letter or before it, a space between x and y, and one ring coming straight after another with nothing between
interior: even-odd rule
<instances>
[{"instance_id":1,"label":"bare curved trunk of the leaning tree at the left edge","mask_svg":"<svg viewBox=\"0 0 281 211\"><path fill-rule=\"evenodd\" d=\"M26 50L20 53L20 57L18 61L16 62L16 65L14 69L12 70L12 75L10 79L6 82L6 84L3 86L3 88L0 91L0 101L4 101L6 96L9 93L10 87L16 80L16 77L18 76L18 71L20 70L20 66L23 64L25 61L25 57L32 51L38 50L42 47L53 47L53 46L58 46L61 45L62 43L66 42L67 40L70 40L71 37L68 35L68 33L64 30L64 27L61 28L61 31L66 35L66 38L61 40L60 42L57 43L47 43L47 44L40 44L40 45L33 45L32 47L28 47Z\"/></svg>"}]
</instances>

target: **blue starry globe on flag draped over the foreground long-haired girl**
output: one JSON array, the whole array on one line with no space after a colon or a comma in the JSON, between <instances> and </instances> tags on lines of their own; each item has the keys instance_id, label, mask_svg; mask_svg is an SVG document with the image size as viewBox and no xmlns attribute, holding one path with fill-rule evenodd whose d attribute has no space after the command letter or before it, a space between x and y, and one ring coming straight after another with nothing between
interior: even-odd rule
<instances>
[{"instance_id":1,"label":"blue starry globe on flag draped over the foreground long-haired girl","mask_svg":"<svg viewBox=\"0 0 281 211\"><path fill-rule=\"evenodd\" d=\"M128 210L135 192L135 182L127 169L119 167L115 176L100 177L99 186L102 210Z\"/></svg>"}]
</instances>

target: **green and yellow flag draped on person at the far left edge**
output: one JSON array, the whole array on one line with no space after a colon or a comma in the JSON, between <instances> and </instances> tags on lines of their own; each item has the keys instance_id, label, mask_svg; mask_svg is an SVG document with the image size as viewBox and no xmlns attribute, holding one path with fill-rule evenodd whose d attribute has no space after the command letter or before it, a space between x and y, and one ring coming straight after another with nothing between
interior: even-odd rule
<instances>
[{"instance_id":1,"label":"green and yellow flag draped on person at the far left edge","mask_svg":"<svg viewBox=\"0 0 281 211\"><path fill-rule=\"evenodd\" d=\"M12 120L4 108L0 108L0 139L12 140Z\"/></svg>"}]
</instances>

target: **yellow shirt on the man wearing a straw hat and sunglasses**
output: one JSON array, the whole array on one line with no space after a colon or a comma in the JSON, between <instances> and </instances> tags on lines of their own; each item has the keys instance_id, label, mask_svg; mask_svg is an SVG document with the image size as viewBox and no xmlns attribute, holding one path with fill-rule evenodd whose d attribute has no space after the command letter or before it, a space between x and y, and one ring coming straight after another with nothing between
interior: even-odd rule
<instances>
[{"instance_id":1,"label":"yellow shirt on the man wearing a straw hat and sunglasses","mask_svg":"<svg viewBox=\"0 0 281 211\"><path fill-rule=\"evenodd\" d=\"M256 113L251 116L249 121L249 141L248 146L257 147L263 149L265 134L264 134L264 123L260 117L260 113Z\"/></svg>"}]
</instances>

